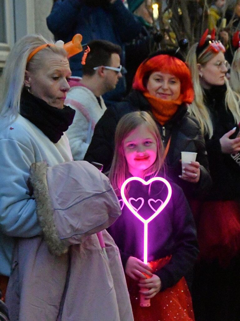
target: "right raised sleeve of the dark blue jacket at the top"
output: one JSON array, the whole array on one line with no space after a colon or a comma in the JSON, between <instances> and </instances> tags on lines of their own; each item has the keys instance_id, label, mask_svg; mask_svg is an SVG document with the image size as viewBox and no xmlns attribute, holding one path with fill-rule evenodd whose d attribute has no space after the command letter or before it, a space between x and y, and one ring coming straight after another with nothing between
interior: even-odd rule
<instances>
[{"instance_id":1,"label":"right raised sleeve of the dark blue jacket at the top","mask_svg":"<svg viewBox=\"0 0 240 321\"><path fill-rule=\"evenodd\" d=\"M109 4L107 10L112 14L115 30L122 42L136 38L141 32L141 22L125 7L121 0Z\"/></svg>"}]
</instances>

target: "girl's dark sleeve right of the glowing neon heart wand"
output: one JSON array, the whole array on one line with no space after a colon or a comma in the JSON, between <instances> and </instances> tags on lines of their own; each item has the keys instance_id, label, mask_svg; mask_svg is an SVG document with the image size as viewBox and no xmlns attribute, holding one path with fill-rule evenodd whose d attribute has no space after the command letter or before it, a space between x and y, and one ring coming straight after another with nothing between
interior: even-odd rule
<instances>
[{"instance_id":1,"label":"girl's dark sleeve right of the glowing neon heart wand","mask_svg":"<svg viewBox=\"0 0 240 321\"><path fill-rule=\"evenodd\" d=\"M156 272L162 282L161 291L175 285L192 268L198 255L193 215L182 190L175 189L173 235L175 246L169 264Z\"/></svg>"}]
</instances>

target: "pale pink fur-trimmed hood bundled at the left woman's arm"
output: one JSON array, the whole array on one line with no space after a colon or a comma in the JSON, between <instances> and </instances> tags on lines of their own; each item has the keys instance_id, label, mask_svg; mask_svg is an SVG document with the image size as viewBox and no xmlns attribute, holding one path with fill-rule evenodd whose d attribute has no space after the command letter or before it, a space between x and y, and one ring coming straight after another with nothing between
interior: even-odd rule
<instances>
[{"instance_id":1,"label":"pale pink fur-trimmed hood bundled at the left woman's arm","mask_svg":"<svg viewBox=\"0 0 240 321\"><path fill-rule=\"evenodd\" d=\"M109 227L121 214L109 179L86 161L53 167L34 163L30 179L44 239L55 255Z\"/></svg>"}]
</instances>

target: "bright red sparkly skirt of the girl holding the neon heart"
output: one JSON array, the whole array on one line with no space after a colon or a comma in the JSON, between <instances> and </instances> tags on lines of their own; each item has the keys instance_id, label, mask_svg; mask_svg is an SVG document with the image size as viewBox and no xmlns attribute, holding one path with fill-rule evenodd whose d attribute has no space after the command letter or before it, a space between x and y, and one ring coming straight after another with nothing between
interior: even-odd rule
<instances>
[{"instance_id":1,"label":"bright red sparkly skirt of the girl holding the neon heart","mask_svg":"<svg viewBox=\"0 0 240 321\"><path fill-rule=\"evenodd\" d=\"M149 262L153 271L169 263L169 256ZM153 272L153 273L154 273ZM158 292L151 299L150 307L140 307L139 286L126 276L135 321L194 321L192 298L186 281L182 278L173 287Z\"/></svg>"}]
</instances>

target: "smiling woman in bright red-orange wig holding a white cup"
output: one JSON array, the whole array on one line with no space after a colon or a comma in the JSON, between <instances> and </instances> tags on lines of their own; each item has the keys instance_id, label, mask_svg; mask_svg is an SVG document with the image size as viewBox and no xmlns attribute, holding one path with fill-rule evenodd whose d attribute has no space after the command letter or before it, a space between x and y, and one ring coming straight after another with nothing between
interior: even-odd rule
<instances>
[{"instance_id":1,"label":"smiling woman in bright red-orange wig holding a white cup","mask_svg":"<svg viewBox=\"0 0 240 321\"><path fill-rule=\"evenodd\" d=\"M85 160L103 164L107 172L114 152L114 134L120 118L145 110L156 121L165 147L168 176L188 198L200 197L211 185L205 143L198 121L187 112L194 99L191 73L175 50L158 51L137 69L133 90L109 107L95 126ZM181 167L181 152L197 152L196 161Z\"/></svg>"}]
</instances>

